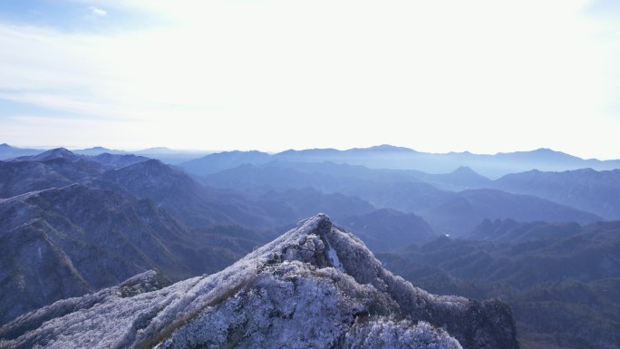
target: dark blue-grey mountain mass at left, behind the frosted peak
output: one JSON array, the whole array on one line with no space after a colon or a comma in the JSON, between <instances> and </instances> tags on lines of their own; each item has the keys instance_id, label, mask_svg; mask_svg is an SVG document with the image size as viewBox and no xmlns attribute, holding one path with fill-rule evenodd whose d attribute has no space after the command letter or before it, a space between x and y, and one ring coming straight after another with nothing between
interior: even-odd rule
<instances>
[{"instance_id":1,"label":"dark blue-grey mountain mass at left, behind the frosted peak","mask_svg":"<svg viewBox=\"0 0 620 349\"><path fill-rule=\"evenodd\" d=\"M0 179L0 324L153 268L172 280L221 270L316 211L376 209L308 188L208 188L160 160L62 148L0 161Z\"/></svg>"}]
</instances>

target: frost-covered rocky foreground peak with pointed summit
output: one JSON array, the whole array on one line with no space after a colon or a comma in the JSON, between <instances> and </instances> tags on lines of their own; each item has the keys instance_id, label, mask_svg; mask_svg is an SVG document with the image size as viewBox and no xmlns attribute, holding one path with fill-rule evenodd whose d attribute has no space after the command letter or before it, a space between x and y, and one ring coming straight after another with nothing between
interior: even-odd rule
<instances>
[{"instance_id":1,"label":"frost-covered rocky foreground peak with pointed summit","mask_svg":"<svg viewBox=\"0 0 620 349\"><path fill-rule=\"evenodd\" d=\"M325 215L218 274L152 292L141 284L23 315L0 328L0 346L518 348L506 305L432 296Z\"/></svg>"}]
</instances>

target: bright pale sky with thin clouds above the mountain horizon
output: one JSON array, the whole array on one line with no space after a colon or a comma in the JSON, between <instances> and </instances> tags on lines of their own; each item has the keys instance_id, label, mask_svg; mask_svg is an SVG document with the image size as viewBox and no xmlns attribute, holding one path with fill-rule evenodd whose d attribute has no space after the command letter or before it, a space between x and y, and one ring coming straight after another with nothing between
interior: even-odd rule
<instances>
[{"instance_id":1,"label":"bright pale sky with thin clouds above the mountain horizon","mask_svg":"<svg viewBox=\"0 0 620 349\"><path fill-rule=\"evenodd\" d=\"M617 0L2 0L0 142L620 158Z\"/></svg>"}]
</instances>

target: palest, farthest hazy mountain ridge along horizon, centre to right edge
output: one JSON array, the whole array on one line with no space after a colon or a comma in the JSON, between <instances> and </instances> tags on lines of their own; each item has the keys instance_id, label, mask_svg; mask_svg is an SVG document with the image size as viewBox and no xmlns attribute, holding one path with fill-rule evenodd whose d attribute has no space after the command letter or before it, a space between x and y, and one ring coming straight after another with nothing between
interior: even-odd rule
<instances>
[{"instance_id":1,"label":"palest, farthest hazy mountain ridge along horizon, centre to right edge","mask_svg":"<svg viewBox=\"0 0 620 349\"><path fill-rule=\"evenodd\" d=\"M620 160L583 160L560 151L548 149L495 155L470 152L434 154L389 145L350 150L286 150L273 155L258 151L229 151L210 154L203 158L181 163L179 166L197 175L207 175L244 164L260 165L270 160L286 160L289 162L331 161L349 165L363 165L373 169L421 170L428 173L448 173L462 166L474 169L489 178L499 178L508 173L534 169L548 171L576 170L588 167L596 170L620 168Z\"/></svg>"}]
</instances>

